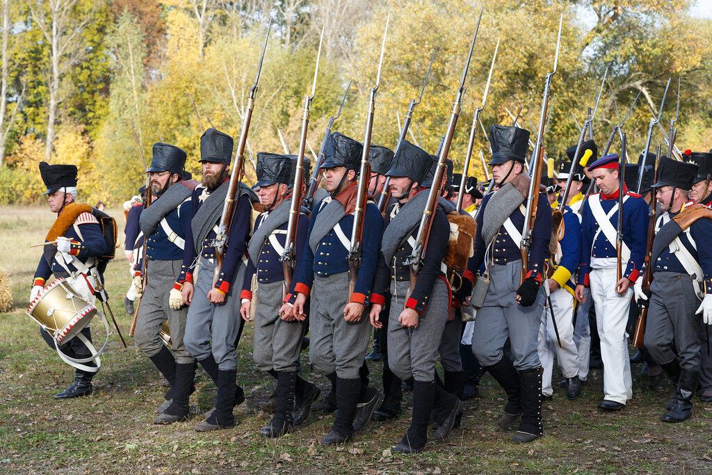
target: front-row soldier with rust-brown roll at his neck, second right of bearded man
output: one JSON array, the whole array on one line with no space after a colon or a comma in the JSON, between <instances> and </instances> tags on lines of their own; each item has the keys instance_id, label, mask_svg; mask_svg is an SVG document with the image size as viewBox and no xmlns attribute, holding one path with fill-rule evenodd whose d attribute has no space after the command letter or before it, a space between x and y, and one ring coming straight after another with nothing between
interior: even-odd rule
<instances>
[{"instance_id":1,"label":"front-row soldier with rust-brown roll at his neck, second right of bearded man","mask_svg":"<svg viewBox=\"0 0 712 475\"><path fill-rule=\"evenodd\" d=\"M337 405L334 424L321 439L322 445L349 440L370 421L382 398L368 385L364 360L371 326L363 312L370 303L383 225L373 203L365 209L361 264L354 291L348 295L347 235L354 223L362 151L360 142L339 132L330 135L321 167L331 196L311 215L298 278L282 307L285 315L305 318L304 305L311 292L309 359L330 380Z\"/></svg>"}]
</instances>

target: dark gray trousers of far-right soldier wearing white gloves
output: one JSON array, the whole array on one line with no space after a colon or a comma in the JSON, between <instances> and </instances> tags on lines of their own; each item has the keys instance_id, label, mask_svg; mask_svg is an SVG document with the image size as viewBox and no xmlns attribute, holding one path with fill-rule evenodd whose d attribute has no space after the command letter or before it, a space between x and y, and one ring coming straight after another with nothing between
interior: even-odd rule
<instances>
[{"instance_id":1,"label":"dark gray trousers of far-right soldier wearing white gloves","mask_svg":"<svg viewBox=\"0 0 712 475\"><path fill-rule=\"evenodd\" d=\"M690 276L676 272L656 272L650 284L650 305L645 323L645 348L656 362L675 359L675 343L680 367L700 370L700 321L695 314L700 301ZM705 349L706 350L706 349Z\"/></svg>"}]
</instances>

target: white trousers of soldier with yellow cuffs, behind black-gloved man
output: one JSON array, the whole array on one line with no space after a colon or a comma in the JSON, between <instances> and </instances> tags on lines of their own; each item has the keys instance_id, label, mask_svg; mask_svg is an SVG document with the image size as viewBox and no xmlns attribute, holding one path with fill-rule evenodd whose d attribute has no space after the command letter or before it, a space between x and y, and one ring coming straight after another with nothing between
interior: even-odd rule
<instances>
[{"instance_id":1,"label":"white trousers of soldier with yellow cuffs, behind black-gloved man","mask_svg":"<svg viewBox=\"0 0 712 475\"><path fill-rule=\"evenodd\" d=\"M547 285L547 283L544 283ZM551 318L553 310L556 318L556 328L559 339L556 338L554 322ZM580 362L578 350L574 343L574 296L563 288L551 294L551 310L549 301L545 303L539 328L539 359L544 367L541 392L545 396L553 394L551 377L554 368L554 353L564 377L574 377L579 374ZM561 345L559 345L559 343Z\"/></svg>"}]
</instances>

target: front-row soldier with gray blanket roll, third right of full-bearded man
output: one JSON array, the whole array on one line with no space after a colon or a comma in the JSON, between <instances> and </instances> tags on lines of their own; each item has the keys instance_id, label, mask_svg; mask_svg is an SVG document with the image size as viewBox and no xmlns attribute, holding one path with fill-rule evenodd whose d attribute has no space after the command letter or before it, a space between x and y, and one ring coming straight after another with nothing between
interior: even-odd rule
<instances>
[{"instance_id":1,"label":"front-row soldier with gray blanket roll, third right of full-bearded man","mask_svg":"<svg viewBox=\"0 0 712 475\"><path fill-rule=\"evenodd\" d=\"M370 312L372 325L382 326L379 320L385 303L387 288L390 293L388 317L389 365L402 380L412 380L413 416L410 427L394 451L416 453L427 442L428 422L434 412L439 425L436 437L444 438L452 429L462 403L435 384L435 363L450 306L451 293L442 260L449 239L449 222L445 213L436 208L428 249L417 283L406 298L410 281L407 259L412 254L415 234L423 216L428 192L422 183L432 166L424 150L404 140L387 176L397 203L386 213L386 229L381 242L377 278ZM430 179L432 182L432 179ZM443 200L444 201L444 200Z\"/></svg>"}]
</instances>

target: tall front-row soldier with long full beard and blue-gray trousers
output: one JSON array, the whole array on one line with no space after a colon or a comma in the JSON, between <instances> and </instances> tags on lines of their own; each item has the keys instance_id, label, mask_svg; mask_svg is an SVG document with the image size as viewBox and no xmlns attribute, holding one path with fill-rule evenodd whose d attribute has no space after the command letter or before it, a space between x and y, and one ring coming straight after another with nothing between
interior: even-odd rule
<instances>
[{"instance_id":1,"label":"tall front-row soldier with long full beard and blue-gray trousers","mask_svg":"<svg viewBox=\"0 0 712 475\"><path fill-rule=\"evenodd\" d=\"M215 282L213 241L229 187L229 167L233 140L229 135L209 128L200 137L200 162L203 180L191 196L190 225L186 229L183 266L176 288L189 305L184 343L218 388L214 411L197 432L225 429L235 424L233 408L244 402L241 387L236 386L236 346L242 330L239 291L242 289L244 254L250 234L251 202L254 192L242 185L236 192L236 205L227 238L224 261ZM200 265L193 283L196 263ZM231 285L236 283L236 285ZM235 291L235 288L238 290Z\"/></svg>"}]
</instances>

